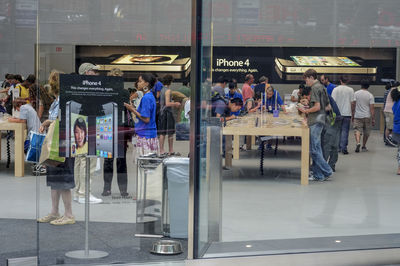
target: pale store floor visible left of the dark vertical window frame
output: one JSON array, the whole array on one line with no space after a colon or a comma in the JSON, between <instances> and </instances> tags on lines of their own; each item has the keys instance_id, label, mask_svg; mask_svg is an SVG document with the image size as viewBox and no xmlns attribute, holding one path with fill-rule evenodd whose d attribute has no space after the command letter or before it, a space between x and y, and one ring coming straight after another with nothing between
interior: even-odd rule
<instances>
[{"instance_id":1,"label":"pale store floor visible left of the dark vertical window frame","mask_svg":"<svg viewBox=\"0 0 400 266\"><path fill-rule=\"evenodd\" d=\"M13 150L13 143L11 145ZM177 151L182 155L188 154L188 142L177 142ZM38 216L46 215L50 211L50 188L46 186L46 176L33 176L30 165L25 167L25 177L14 177L14 165L11 163L6 168L6 145L3 139L2 160L0 161L0 218L36 219ZM13 160L13 154L11 156ZM136 222L136 204L131 196L136 194L134 182L135 165L133 164L132 150L127 153L128 162L128 192L130 197L120 199L116 176L113 178L111 197L101 197L103 191L102 170L95 173L92 179L91 191L96 197L103 198L105 204L91 204L90 220L96 222ZM115 167L114 167L115 169ZM7 202L7 204L4 204ZM39 206L37 209L36 206ZM63 211L62 202L60 211ZM78 221L84 220L85 206L73 202L73 213Z\"/></svg>"}]
</instances>

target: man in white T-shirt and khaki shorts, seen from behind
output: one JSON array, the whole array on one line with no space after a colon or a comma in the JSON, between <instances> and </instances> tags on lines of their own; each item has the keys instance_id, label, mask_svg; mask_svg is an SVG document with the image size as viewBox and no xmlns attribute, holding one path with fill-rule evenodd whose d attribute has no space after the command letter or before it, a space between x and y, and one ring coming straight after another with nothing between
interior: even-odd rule
<instances>
[{"instance_id":1,"label":"man in white T-shirt and khaki shorts, seen from behind","mask_svg":"<svg viewBox=\"0 0 400 266\"><path fill-rule=\"evenodd\" d=\"M352 102L352 113L354 121L354 136L356 138L356 150L360 152L360 138L363 134L362 151L368 151L366 144L372 126L375 125L374 96L368 91L369 82L361 81L361 90L356 91Z\"/></svg>"}]
</instances>

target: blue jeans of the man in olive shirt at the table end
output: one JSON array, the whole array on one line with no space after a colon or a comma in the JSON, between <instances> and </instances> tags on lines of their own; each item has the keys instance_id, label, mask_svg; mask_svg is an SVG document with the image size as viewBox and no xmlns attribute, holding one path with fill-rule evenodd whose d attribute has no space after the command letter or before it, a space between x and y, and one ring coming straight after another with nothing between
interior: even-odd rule
<instances>
[{"instance_id":1,"label":"blue jeans of the man in olive shirt at the table end","mask_svg":"<svg viewBox=\"0 0 400 266\"><path fill-rule=\"evenodd\" d=\"M313 160L312 171L314 177L323 179L332 174L332 168L325 161L321 148L322 124L316 123L310 126L310 153Z\"/></svg>"}]
</instances>

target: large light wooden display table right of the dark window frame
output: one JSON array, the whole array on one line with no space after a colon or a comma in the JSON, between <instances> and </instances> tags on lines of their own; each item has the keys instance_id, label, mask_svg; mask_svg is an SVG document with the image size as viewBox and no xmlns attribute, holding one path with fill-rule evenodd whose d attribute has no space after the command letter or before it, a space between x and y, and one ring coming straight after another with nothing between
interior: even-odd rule
<instances>
[{"instance_id":1,"label":"large light wooden display table right of the dark window frame","mask_svg":"<svg viewBox=\"0 0 400 266\"><path fill-rule=\"evenodd\" d=\"M239 159L240 136L296 136L301 137L301 184L308 185L310 165L310 133L307 126L302 125L302 118L297 114L283 114L278 118L272 114L250 115L229 121L223 128L222 134L225 141L225 165L232 166L233 159ZM257 126L256 126L256 122ZM232 147L233 137L233 147Z\"/></svg>"}]
</instances>

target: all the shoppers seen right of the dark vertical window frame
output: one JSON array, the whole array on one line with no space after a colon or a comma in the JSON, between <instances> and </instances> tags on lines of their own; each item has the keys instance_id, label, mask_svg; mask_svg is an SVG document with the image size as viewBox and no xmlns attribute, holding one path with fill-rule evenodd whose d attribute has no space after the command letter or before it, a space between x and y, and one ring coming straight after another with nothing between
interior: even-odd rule
<instances>
[{"instance_id":1,"label":"all the shoppers seen right of the dark vertical window frame","mask_svg":"<svg viewBox=\"0 0 400 266\"><path fill-rule=\"evenodd\" d=\"M356 142L355 153L367 152L367 142L371 129L375 125L374 96L368 91L369 80L361 81L361 89L354 91L349 86L350 78L340 76L340 84L335 85L326 74L307 70L304 82L293 90L290 101L297 104L300 114L310 128L310 180L325 181L336 171L339 153L349 154L348 143L351 125ZM397 146L400 139L396 128L395 105L393 94L398 92L399 84L387 88L385 97L386 131L385 143ZM224 96L225 95L225 96ZM254 76L247 74L242 88L237 83L219 77L212 87L212 116L223 121L235 119L240 115L261 111L273 112L275 109L285 110L285 104L279 92L262 76L254 84ZM393 108L393 110L392 110ZM396 109L397 110L397 109ZM400 109L399 109L400 110ZM397 131L396 131L397 130ZM400 165L400 152L399 152ZM398 173L400 174L400 168Z\"/></svg>"}]
</instances>

